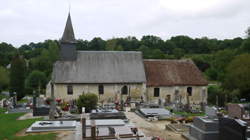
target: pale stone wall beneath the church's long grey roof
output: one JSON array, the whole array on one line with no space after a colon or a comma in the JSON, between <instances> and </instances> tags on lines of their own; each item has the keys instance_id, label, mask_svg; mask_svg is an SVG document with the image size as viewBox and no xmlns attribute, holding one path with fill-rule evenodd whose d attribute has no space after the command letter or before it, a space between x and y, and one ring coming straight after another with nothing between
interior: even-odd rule
<instances>
[{"instance_id":1,"label":"pale stone wall beneath the church's long grey roof","mask_svg":"<svg viewBox=\"0 0 250 140\"><path fill-rule=\"evenodd\" d=\"M121 96L121 89L123 86L128 87L128 94ZM77 99L80 95L86 93L95 93L100 102L114 102L122 97L125 101L127 96L131 96L132 100L140 100L141 96L145 95L145 84L103 84L104 94L99 94L98 84L73 84L73 95L67 94L67 84L55 84L54 94L55 98L63 100ZM47 87L48 88L48 87ZM46 96L50 97L51 92L47 90ZM145 98L143 96L143 98Z\"/></svg>"}]
</instances>

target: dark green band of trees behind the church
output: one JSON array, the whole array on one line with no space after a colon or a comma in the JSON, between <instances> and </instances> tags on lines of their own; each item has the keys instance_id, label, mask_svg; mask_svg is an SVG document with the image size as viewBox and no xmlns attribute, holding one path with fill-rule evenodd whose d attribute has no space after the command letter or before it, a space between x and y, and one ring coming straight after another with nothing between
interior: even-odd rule
<instances>
[{"instance_id":1,"label":"dark green band of trees behind the church","mask_svg":"<svg viewBox=\"0 0 250 140\"><path fill-rule=\"evenodd\" d=\"M249 35L249 32L247 32ZM190 38L188 36L176 36L169 40L163 40L157 36L143 36L140 40L136 37L112 38L103 40L96 37L91 41L77 40L77 50L107 50L107 51L142 51L145 59L192 59L199 69L204 72L204 75L209 81L219 83L219 88L213 89L225 96L225 94L233 95L232 98L249 98L247 93L250 93L250 81L242 79L247 77L250 72L250 39L249 38L234 38L234 39L209 39L209 38ZM11 44L0 44L0 71L9 73L6 67L11 63L16 55L22 56L20 59L25 60L27 69L25 70L25 89L43 89L44 92L46 83L50 80L52 65L58 59L59 43L55 40L46 40L40 43L30 43L22 45L19 48L13 47ZM243 64L238 63L246 61ZM236 68L237 67L237 68ZM40 82L35 85L28 84L32 80L31 76L44 75L45 82ZM235 75L235 73L239 75ZM247 72L244 73L243 72ZM42 74L41 74L42 73ZM37 76L39 77L39 76ZM238 81L236 80L238 78ZM241 78L241 79L239 79ZM248 77L250 79L250 76ZM1 79L1 73L0 73ZM5 76L6 79L6 76ZM34 78L33 78L34 79ZM36 79L36 78L35 78ZM44 79L44 78L40 78ZM2 80L0 80L1 82ZM11 83L11 79L3 80L5 83ZM39 81L39 80L33 80ZM240 84L240 85L239 85ZM0 84L1 85L1 84ZM2 84L2 89L10 89L11 85ZM1 87L0 87L1 89ZM213 97L214 98L214 97ZM211 98L211 101L214 99ZM250 98L249 98L250 99Z\"/></svg>"}]
</instances>

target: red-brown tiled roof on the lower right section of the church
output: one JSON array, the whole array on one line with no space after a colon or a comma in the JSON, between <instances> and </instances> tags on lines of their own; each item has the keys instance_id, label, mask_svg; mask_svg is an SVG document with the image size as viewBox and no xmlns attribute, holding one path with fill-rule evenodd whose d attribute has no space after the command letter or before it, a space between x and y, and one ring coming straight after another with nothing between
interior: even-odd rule
<instances>
[{"instance_id":1,"label":"red-brown tiled roof on the lower right section of the church","mask_svg":"<svg viewBox=\"0 0 250 140\"><path fill-rule=\"evenodd\" d=\"M144 60L147 86L205 86L192 60Z\"/></svg>"}]
</instances>

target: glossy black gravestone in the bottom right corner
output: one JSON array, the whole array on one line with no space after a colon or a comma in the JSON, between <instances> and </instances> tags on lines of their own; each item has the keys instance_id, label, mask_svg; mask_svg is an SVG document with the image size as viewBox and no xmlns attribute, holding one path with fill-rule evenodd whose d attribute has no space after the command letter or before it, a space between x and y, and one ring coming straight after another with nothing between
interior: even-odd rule
<instances>
[{"instance_id":1,"label":"glossy black gravestone in the bottom right corner","mask_svg":"<svg viewBox=\"0 0 250 140\"><path fill-rule=\"evenodd\" d=\"M239 119L219 118L220 140L246 140L246 122Z\"/></svg>"}]
</instances>

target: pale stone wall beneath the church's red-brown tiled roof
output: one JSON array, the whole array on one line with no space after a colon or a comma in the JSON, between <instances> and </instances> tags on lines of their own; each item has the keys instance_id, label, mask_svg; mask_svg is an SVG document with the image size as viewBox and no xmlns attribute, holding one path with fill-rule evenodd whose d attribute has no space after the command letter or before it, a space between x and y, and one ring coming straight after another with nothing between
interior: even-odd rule
<instances>
[{"instance_id":1,"label":"pale stone wall beneath the church's red-brown tiled roof","mask_svg":"<svg viewBox=\"0 0 250 140\"><path fill-rule=\"evenodd\" d=\"M168 100L167 98L170 97L170 102L174 102L177 99L179 99L181 103L186 104L187 103L186 96L188 94L187 93L188 87L192 87L192 95L189 96L190 104L200 104L201 102L207 103L207 87L206 86L147 87L146 98L149 102L152 102L152 103L158 103L159 99L161 99L162 102L165 103L165 101ZM159 97L154 97L154 88L160 89Z\"/></svg>"}]
</instances>

